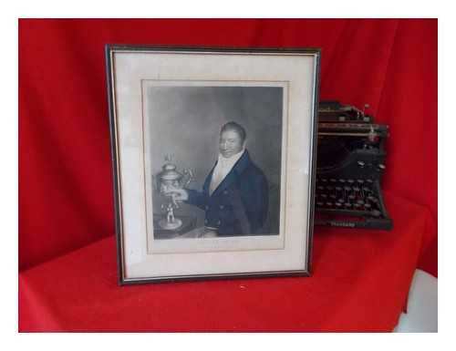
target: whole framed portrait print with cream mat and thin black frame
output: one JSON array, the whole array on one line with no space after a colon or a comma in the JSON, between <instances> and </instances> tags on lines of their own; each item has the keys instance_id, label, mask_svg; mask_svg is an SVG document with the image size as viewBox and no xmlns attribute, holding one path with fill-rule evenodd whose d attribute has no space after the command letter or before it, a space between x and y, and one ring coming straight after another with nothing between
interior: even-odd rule
<instances>
[{"instance_id":1,"label":"whole framed portrait print with cream mat and thin black frame","mask_svg":"<svg viewBox=\"0 0 456 351\"><path fill-rule=\"evenodd\" d=\"M119 284L309 275L319 50L106 61Z\"/></svg>"}]
</instances>

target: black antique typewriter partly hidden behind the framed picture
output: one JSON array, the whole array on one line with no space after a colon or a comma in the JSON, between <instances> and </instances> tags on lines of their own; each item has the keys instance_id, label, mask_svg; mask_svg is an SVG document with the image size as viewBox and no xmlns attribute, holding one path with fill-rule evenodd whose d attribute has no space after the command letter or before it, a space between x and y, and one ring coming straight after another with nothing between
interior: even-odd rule
<instances>
[{"instance_id":1,"label":"black antique typewriter partly hidden behind the framed picture","mask_svg":"<svg viewBox=\"0 0 456 351\"><path fill-rule=\"evenodd\" d=\"M315 224L390 230L380 188L389 127L338 101L321 101L318 119Z\"/></svg>"}]
</instances>

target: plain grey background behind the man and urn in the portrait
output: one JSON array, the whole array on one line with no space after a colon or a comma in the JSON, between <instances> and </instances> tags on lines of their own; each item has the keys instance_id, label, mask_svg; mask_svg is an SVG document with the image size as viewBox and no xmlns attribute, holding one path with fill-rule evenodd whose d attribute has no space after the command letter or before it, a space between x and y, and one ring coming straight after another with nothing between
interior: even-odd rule
<instances>
[{"instance_id":1,"label":"plain grey background behind the man and urn in the portrait","mask_svg":"<svg viewBox=\"0 0 456 351\"><path fill-rule=\"evenodd\" d=\"M246 149L264 171L270 188L267 225L278 233L282 151L282 87L154 87L146 88L151 148L151 171L158 174L166 154L178 167L192 169L190 188L202 184L218 157L220 128L228 121L241 124L247 132ZM150 181L150 180L146 180ZM153 212L163 213L160 196L154 193ZM182 203L176 215L197 216L204 212Z\"/></svg>"}]
</instances>

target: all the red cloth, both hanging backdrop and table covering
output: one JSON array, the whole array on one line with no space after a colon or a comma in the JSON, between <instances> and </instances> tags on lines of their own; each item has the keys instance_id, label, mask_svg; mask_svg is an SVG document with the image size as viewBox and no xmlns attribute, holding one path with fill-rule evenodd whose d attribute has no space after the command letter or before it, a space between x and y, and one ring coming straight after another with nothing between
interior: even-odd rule
<instances>
[{"instance_id":1,"label":"all the red cloth, both hanging backdrop and table covering","mask_svg":"<svg viewBox=\"0 0 456 351\"><path fill-rule=\"evenodd\" d=\"M103 46L322 48L389 124L391 232L318 228L311 278L117 285ZM437 275L437 20L19 21L19 330L387 331Z\"/></svg>"}]
</instances>

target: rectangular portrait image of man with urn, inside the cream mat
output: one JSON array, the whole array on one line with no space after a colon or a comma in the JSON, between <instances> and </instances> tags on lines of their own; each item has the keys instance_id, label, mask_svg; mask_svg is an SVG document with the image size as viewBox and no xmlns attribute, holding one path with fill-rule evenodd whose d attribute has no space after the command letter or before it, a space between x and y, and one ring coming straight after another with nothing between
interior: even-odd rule
<instances>
[{"instance_id":1,"label":"rectangular portrait image of man with urn, inside the cream mat","mask_svg":"<svg viewBox=\"0 0 456 351\"><path fill-rule=\"evenodd\" d=\"M146 169L152 183L187 170L192 180L161 182L150 196L153 238L279 235L284 88L154 84Z\"/></svg>"}]
</instances>

